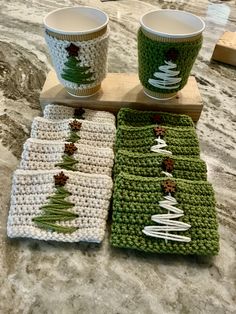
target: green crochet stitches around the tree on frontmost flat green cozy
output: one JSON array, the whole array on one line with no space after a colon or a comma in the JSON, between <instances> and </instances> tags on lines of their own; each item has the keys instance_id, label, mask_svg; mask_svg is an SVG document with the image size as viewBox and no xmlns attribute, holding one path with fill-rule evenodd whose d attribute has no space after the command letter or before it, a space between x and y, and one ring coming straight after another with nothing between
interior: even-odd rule
<instances>
[{"instance_id":1,"label":"green crochet stitches around the tree on frontmost flat green cozy","mask_svg":"<svg viewBox=\"0 0 236 314\"><path fill-rule=\"evenodd\" d=\"M215 255L219 250L219 235L212 186L206 181L172 179L176 183L175 198L184 211L179 220L191 228L179 235L189 236L188 243L178 243L148 237L142 230L155 225L152 215L165 214L159 206L163 200L161 184L156 177L133 176L120 173L113 194L111 243L116 247L133 248L145 252Z\"/></svg>"}]
</instances>

